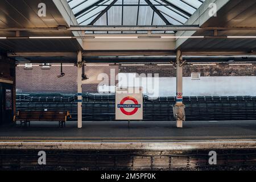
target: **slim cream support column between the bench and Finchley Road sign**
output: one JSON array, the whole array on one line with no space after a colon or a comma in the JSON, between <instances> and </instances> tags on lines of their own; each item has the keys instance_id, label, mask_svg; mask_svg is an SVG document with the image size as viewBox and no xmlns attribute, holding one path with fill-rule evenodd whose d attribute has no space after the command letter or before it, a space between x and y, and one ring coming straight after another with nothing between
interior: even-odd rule
<instances>
[{"instance_id":1,"label":"slim cream support column between the bench and Finchley Road sign","mask_svg":"<svg viewBox=\"0 0 256 182\"><path fill-rule=\"evenodd\" d=\"M82 52L77 55L77 127L82 128Z\"/></svg>"}]
</instances>

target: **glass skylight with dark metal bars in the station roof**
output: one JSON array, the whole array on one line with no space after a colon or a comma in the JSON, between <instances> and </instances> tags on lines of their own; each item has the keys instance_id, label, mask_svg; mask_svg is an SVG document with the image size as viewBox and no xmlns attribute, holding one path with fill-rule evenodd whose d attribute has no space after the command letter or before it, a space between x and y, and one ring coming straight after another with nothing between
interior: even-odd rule
<instances>
[{"instance_id":1,"label":"glass skylight with dark metal bars in the station roof","mask_svg":"<svg viewBox=\"0 0 256 182\"><path fill-rule=\"evenodd\" d=\"M204 0L67 1L80 25L101 26L184 24L204 2Z\"/></svg>"}]
</instances>

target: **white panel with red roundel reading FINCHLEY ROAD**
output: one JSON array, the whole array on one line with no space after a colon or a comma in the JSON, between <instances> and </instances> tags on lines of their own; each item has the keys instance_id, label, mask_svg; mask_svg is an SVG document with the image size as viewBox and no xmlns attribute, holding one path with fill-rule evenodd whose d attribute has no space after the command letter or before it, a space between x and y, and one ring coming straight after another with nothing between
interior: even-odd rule
<instances>
[{"instance_id":1,"label":"white panel with red roundel reading FINCHLEY ROAD","mask_svg":"<svg viewBox=\"0 0 256 182\"><path fill-rule=\"evenodd\" d=\"M142 87L115 88L115 120L143 119Z\"/></svg>"}]
</instances>

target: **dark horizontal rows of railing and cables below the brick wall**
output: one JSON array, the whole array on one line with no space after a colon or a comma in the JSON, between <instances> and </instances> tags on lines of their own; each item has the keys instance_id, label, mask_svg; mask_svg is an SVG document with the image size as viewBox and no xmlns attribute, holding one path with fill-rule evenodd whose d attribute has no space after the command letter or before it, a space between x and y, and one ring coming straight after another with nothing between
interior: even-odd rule
<instances>
[{"instance_id":1,"label":"dark horizontal rows of railing and cables below the brick wall","mask_svg":"<svg viewBox=\"0 0 256 182\"><path fill-rule=\"evenodd\" d=\"M82 118L84 121L113 121L115 118L115 96L83 94ZM256 119L256 97L184 97L188 121L225 121ZM175 97L156 99L143 97L144 121L174 121L172 106ZM65 110L77 119L77 95L25 95L17 94L17 110Z\"/></svg>"}]
</instances>

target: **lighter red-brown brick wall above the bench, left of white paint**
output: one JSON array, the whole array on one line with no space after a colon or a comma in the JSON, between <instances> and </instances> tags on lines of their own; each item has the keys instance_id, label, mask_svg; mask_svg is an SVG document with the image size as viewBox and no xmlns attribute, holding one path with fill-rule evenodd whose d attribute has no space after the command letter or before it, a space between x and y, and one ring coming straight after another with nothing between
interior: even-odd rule
<instances>
[{"instance_id":1,"label":"lighter red-brown brick wall above the bench, left of white paint","mask_svg":"<svg viewBox=\"0 0 256 182\"><path fill-rule=\"evenodd\" d=\"M97 76L100 73L106 73L110 76L110 69L117 66L90 66L86 67L85 74L89 80L84 81L82 92L97 92ZM63 64L64 77L57 78L60 75L60 64L53 64L50 69L42 69L39 64L34 64L32 69L25 69L24 64L16 67L16 87L22 93L77 93L77 67L72 64Z\"/></svg>"}]
</instances>

